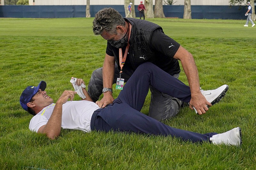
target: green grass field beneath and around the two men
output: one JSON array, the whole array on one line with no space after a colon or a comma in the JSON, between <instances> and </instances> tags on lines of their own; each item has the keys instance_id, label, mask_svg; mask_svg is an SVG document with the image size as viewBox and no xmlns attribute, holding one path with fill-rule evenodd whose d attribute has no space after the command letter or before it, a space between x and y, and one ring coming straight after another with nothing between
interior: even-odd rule
<instances>
[{"instance_id":1,"label":"green grass field beneath and around the two men","mask_svg":"<svg viewBox=\"0 0 256 170\"><path fill-rule=\"evenodd\" d=\"M0 18L0 169L256 169L256 28L244 27L245 20L148 19L193 54L202 89L229 85L207 114L182 108L164 123L198 133L239 126L241 147L67 129L52 141L30 132L32 116L19 103L25 87L44 80L56 101L73 89L70 77L88 85L92 71L102 66L106 41L93 35L92 20ZM180 80L188 84L183 70ZM144 114L149 103L148 95Z\"/></svg>"}]
</instances>

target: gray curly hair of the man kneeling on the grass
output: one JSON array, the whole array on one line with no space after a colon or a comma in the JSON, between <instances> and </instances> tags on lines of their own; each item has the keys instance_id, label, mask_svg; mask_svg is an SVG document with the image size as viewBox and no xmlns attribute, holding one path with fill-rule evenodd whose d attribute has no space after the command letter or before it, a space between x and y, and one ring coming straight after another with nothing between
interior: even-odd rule
<instances>
[{"instance_id":1,"label":"gray curly hair of the man kneeling on the grass","mask_svg":"<svg viewBox=\"0 0 256 170\"><path fill-rule=\"evenodd\" d=\"M125 20L115 9L104 8L95 14L92 24L95 35L102 34L104 30L110 34L116 34L116 26L125 26Z\"/></svg>"}]
</instances>

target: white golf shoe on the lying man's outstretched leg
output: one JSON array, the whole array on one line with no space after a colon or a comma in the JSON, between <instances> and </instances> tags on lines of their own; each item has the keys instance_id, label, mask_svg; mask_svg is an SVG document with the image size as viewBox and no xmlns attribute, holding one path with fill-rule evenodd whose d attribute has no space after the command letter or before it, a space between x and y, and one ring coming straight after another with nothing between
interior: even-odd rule
<instances>
[{"instance_id":1,"label":"white golf shoe on the lying man's outstretched leg","mask_svg":"<svg viewBox=\"0 0 256 170\"><path fill-rule=\"evenodd\" d=\"M225 133L213 135L212 137L210 137L210 141L212 141L212 144L226 144L226 145L241 146L242 144L241 128L237 127Z\"/></svg>"}]
</instances>

